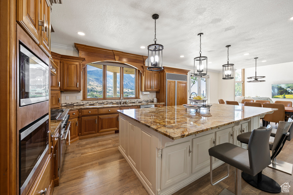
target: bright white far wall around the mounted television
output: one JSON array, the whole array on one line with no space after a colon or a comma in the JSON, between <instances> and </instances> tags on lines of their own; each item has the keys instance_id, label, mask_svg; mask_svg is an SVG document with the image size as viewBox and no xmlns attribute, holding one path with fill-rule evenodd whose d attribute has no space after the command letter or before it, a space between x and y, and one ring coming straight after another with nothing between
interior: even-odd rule
<instances>
[{"instance_id":1,"label":"bright white far wall around the mounted television","mask_svg":"<svg viewBox=\"0 0 293 195\"><path fill-rule=\"evenodd\" d=\"M257 76L265 76L265 82L248 83L247 77L255 76L255 68L245 69L245 96L272 98L272 84L293 83L293 62L259 66ZM292 101L293 99L273 98L275 101Z\"/></svg>"}]
</instances>

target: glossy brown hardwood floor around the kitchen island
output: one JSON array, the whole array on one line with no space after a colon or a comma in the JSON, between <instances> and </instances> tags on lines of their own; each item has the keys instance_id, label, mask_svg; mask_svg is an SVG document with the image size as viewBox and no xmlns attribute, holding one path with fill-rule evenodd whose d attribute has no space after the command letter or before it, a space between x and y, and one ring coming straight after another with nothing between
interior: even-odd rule
<instances>
[{"instance_id":1,"label":"glossy brown hardwood floor around the kitchen island","mask_svg":"<svg viewBox=\"0 0 293 195\"><path fill-rule=\"evenodd\" d=\"M273 128L274 125L273 125ZM119 134L113 134L74 142L67 147L64 166L59 186L54 188L53 195L65 194L139 194L147 191L139 182L134 172L118 151ZM293 141L286 141L277 159L293 163ZM222 178L227 172L226 164L213 170L214 181ZM273 178L280 185L289 183L293 194L293 176L265 168L263 174ZM174 195L219 194L223 189L234 192L234 167L230 166L230 176L212 186L209 174L189 184ZM242 194L269 194L251 187L242 180Z\"/></svg>"}]
</instances>

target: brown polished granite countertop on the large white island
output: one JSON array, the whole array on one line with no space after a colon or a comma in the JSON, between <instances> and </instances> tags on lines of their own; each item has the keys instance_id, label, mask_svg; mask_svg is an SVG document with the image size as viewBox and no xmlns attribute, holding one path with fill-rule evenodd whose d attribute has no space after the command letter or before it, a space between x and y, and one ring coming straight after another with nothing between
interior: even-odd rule
<instances>
[{"instance_id":1,"label":"brown polished granite countertop on the large white island","mask_svg":"<svg viewBox=\"0 0 293 195\"><path fill-rule=\"evenodd\" d=\"M247 120L277 110L251 106L212 104L200 113L183 106L120 110L133 120L173 140Z\"/></svg>"}]
</instances>

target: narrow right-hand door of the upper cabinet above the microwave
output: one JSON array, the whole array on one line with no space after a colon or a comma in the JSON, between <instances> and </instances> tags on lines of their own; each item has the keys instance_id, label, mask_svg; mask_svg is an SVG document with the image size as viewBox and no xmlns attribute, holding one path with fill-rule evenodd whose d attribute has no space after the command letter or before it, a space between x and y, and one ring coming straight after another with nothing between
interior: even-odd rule
<instances>
[{"instance_id":1,"label":"narrow right-hand door of the upper cabinet above the microwave","mask_svg":"<svg viewBox=\"0 0 293 195\"><path fill-rule=\"evenodd\" d=\"M44 26L40 26L41 39L40 48L47 54L50 54L50 36L51 36L51 23L50 23L50 5L47 4L46 0L41 0L41 13L40 18L44 23Z\"/></svg>"}]
</instances>

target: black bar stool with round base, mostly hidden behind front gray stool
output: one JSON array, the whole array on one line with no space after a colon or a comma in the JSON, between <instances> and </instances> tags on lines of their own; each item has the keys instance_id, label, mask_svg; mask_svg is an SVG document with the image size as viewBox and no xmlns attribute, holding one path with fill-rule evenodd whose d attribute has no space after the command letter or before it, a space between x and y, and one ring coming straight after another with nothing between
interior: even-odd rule
<instances>
[{"instance_id":1,"label":"black bar stool with round base, mostly hidden behind front gray stool","mask_svg":"<svg viewBox=\"0 0 293 195\"><path fill-rule=\"evenodd\" d=\"M290 120L290 121L289 121ZM292 125L292 119L289 119L288 122L280 121L279 126L276 132L276 137L270 137L269 139L269 148L272 150L272 156L271 159L276 158L276 156L280 153L282 150L285 141L287 139L287 136L289 135L288 130ZM268 125L267 127L272 128L271 125ZM267 128L267 127L260 127L260 128ZM259 129L260 129L259 128ZM237 136L237 140L241 143L247 144L249 143L248 137L252 134L252 132L246 132L239 134ZM267 177L262 174L262 172L258 173L255 177L252 177L251 175L248 175L246 173L242 173L242 178L245 180L248 184L251 186L260 189L265 192L269 193L279 193L281 192L280 185L275 182L275 180L271 179L270 177Z\"/></svg>"}]
</instances>

